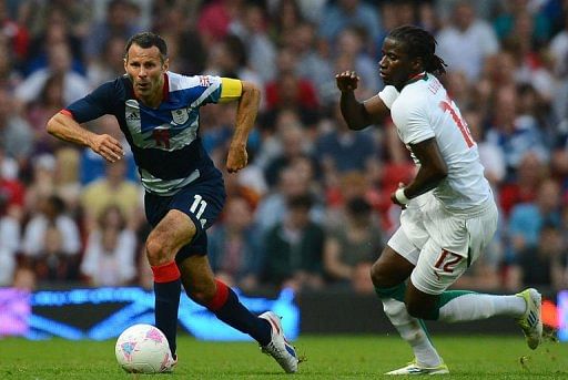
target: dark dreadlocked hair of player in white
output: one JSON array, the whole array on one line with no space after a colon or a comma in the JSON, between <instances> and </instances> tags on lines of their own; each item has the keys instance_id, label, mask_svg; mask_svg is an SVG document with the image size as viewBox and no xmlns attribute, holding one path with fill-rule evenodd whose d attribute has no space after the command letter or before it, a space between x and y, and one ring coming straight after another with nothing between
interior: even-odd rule
<instances>
[{"instance_id":1,"label":"dark dreadlocked hair of player in white","mask_svg":"<svg viewBox=\"0 0 568 380\"><path fill-rule=\"evenodd\" d=\"M415 27L403 25L388 33L388 38L400 40L405 43L408 55L422 59L424 70L434 74L446 73L446 62L436 55L436 39L428 31Z\"/></svg>"}]
</instances>

